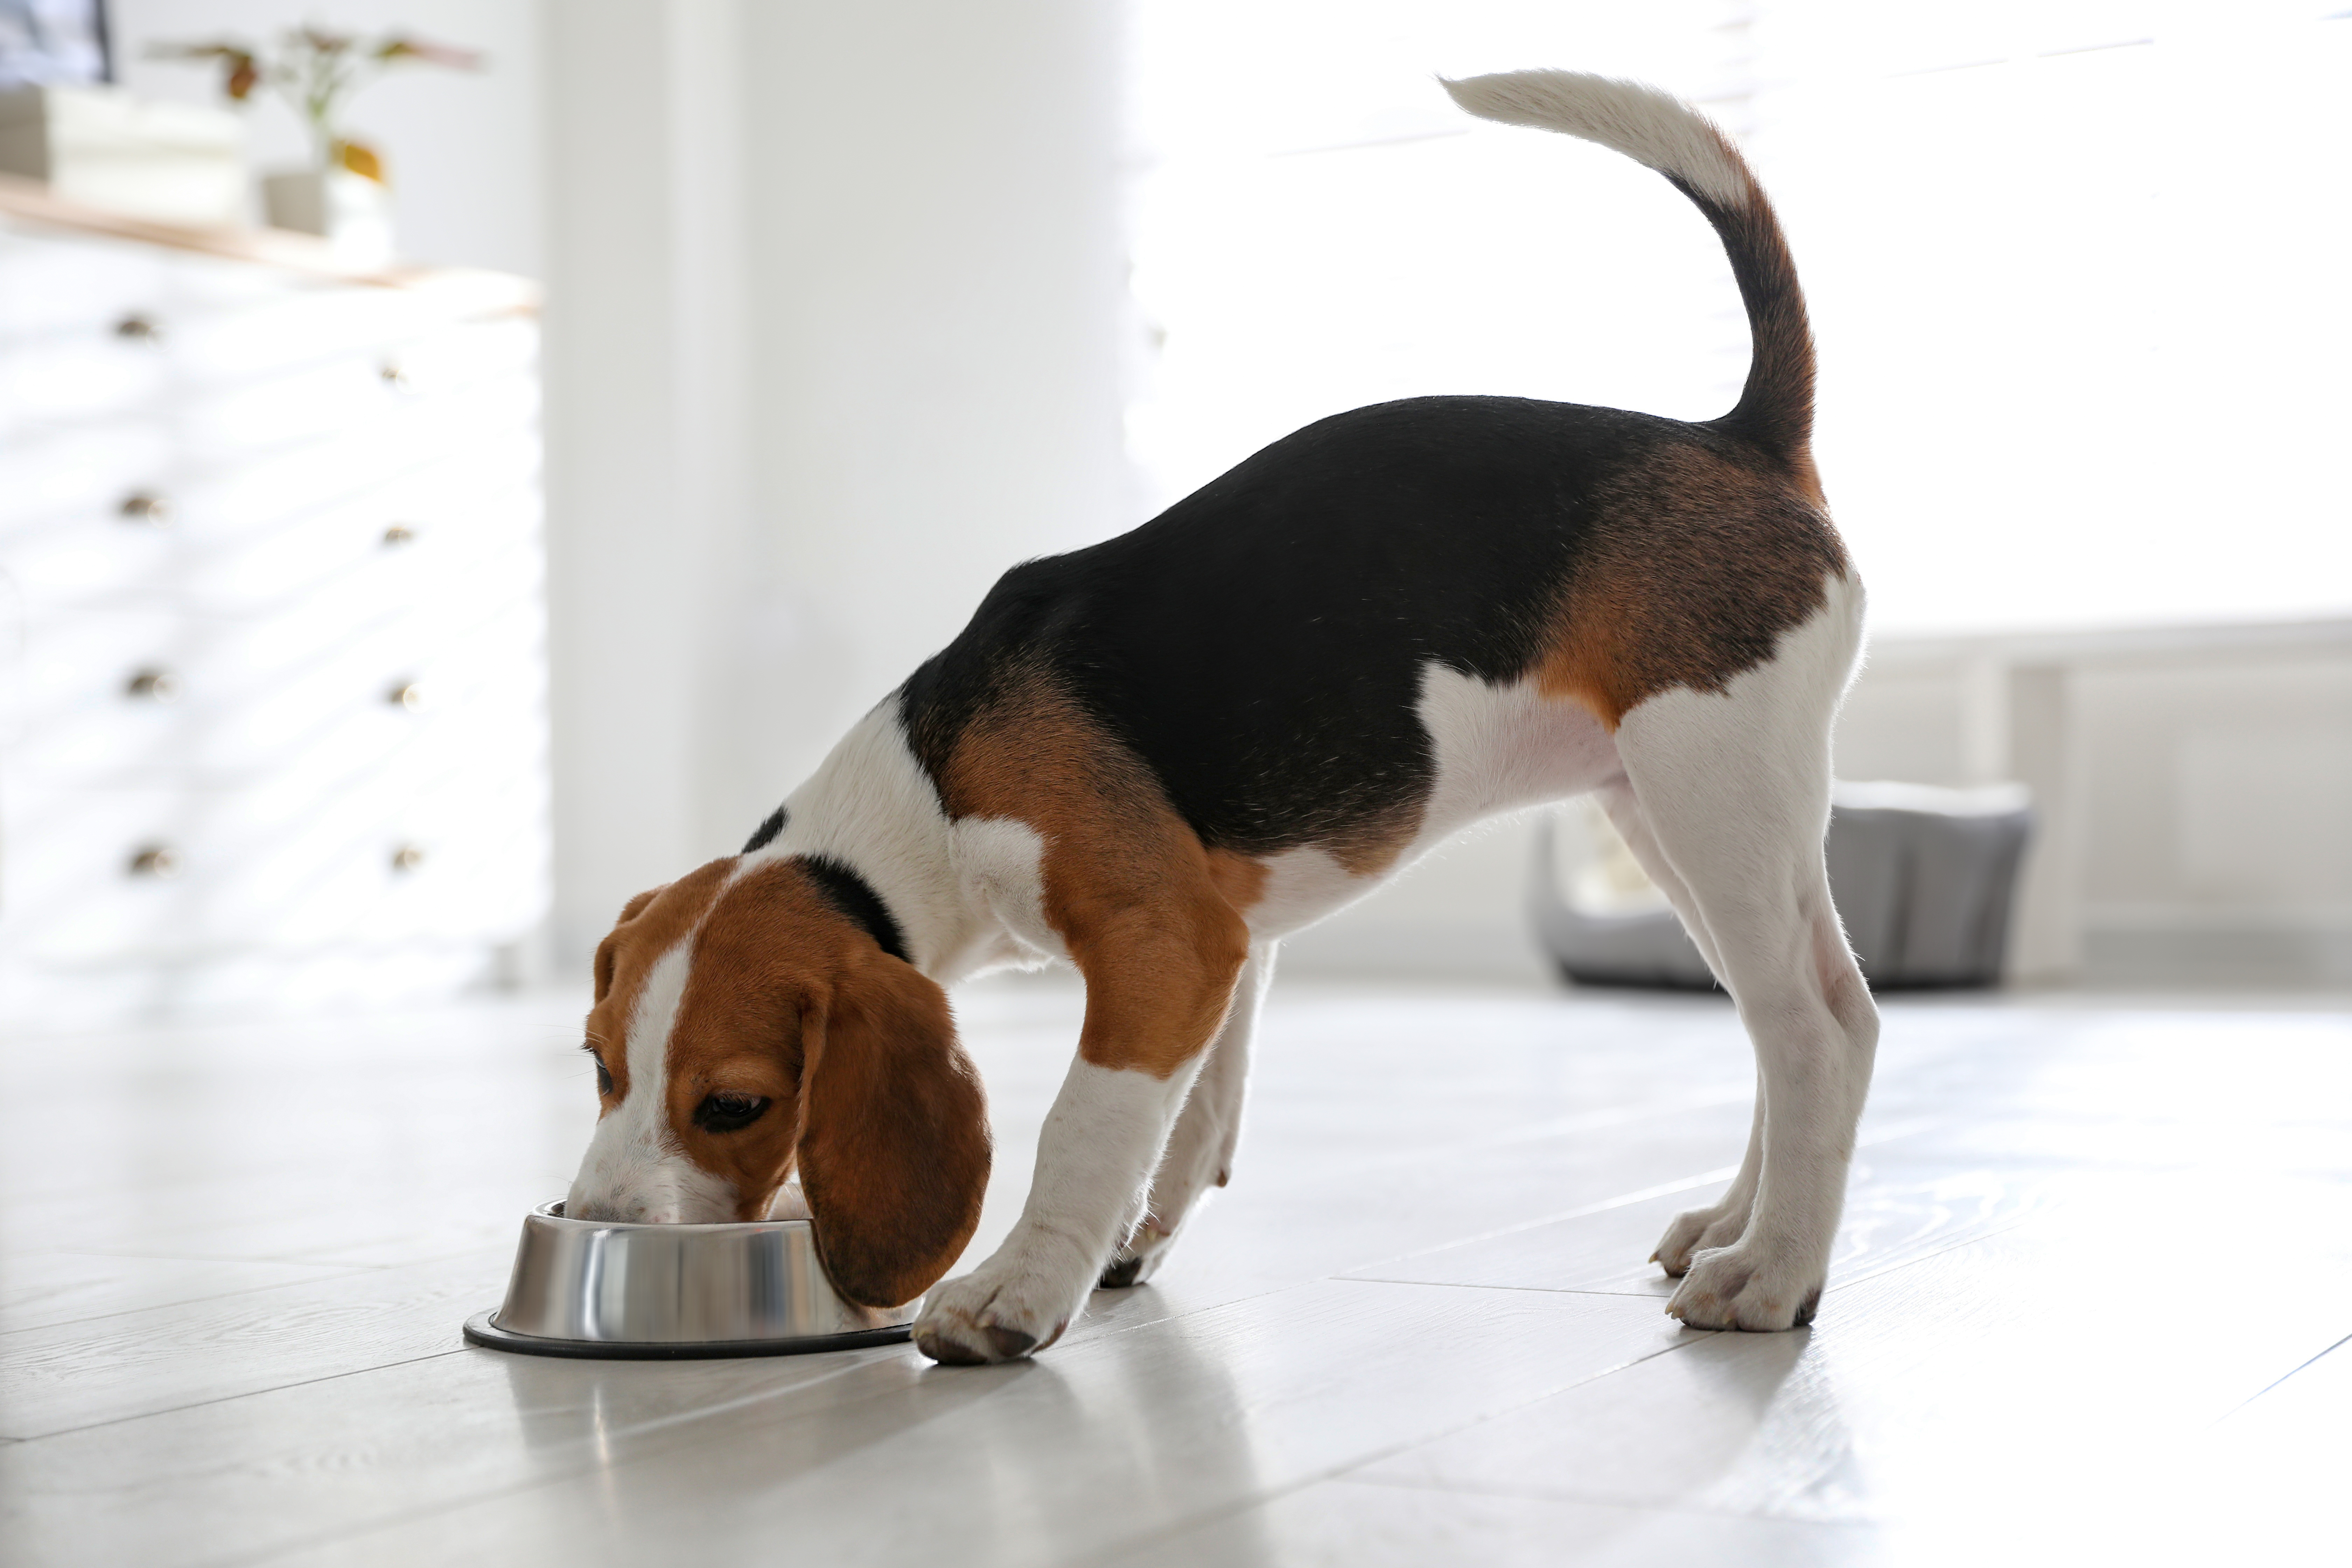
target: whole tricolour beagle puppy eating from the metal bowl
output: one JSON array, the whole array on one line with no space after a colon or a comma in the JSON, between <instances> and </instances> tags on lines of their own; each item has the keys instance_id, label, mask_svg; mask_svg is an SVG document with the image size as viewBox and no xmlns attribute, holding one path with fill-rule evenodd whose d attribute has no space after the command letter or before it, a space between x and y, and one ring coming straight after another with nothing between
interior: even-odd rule
<instances>
[{"instance_id":1,"label":"whole tricolour beagle puppy eating from the metal bowl","mask_svg":"<svg viewBox=\"0 0 2352 1568\"><path fill-rule=\"evenodd\" d=\"M743 853L621 910L572 1213L757 1220L797 1175L842 1295L931 1291L988 1182L941 987L1065 959L1087 1016L1028 1206L915 1324L936 1361L1025 1356L1098 1281L1148 1279L1225 1185L1284 933L1479 818L1595 792L1757 1051L1738 1175L1658 1244L1668 1312L1811 1319L1877 1013L1823 870L1863 590L1809 451L1804 296L1693 108L1559 71L1446 89L1698 205L1748 306L1738 404L1355 409L1014 567Z\"/></svg>"}]
</instances>

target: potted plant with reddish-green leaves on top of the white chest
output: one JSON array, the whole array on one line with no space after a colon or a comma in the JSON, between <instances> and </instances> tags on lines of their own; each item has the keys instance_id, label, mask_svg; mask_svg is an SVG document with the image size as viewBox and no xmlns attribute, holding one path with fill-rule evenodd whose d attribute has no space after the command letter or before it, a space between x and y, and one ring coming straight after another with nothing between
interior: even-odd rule
<instances>
[{"instance_id":1,"label":"potted plant with reddish-green leaves on top of the white chest","mask_svg":"<svg viewBox=\"0 0 2352 1568\"><path fill-rule=\"evenodd\" d=\"M221 89L235 103L268 87L310 132L310 167L270 174L261 200L273 228L325 235L348 261L381 266L393 259L393 216L386 200L383 158L343 132L343 110L372 80L395 66L447 66L475 71L473 49L428 42L412 33L329 33L299 26L278 35L273 49L235 40L153 45L158 59L219 61Z\"/></svg>"}]
</instances>

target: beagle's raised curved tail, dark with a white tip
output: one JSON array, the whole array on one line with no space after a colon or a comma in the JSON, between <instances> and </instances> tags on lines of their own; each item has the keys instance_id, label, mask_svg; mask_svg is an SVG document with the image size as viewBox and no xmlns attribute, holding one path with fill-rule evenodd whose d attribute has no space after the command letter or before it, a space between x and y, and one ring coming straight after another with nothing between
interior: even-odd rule
<instances>
[{"instance_id":1,"label":"beagle's raised curved tail, dark with a white tip","mask_svg":"<svg viewBox=\"0 0 2352 1568\"><path fill-rule=\"evenodd\" d=\"M1731 254L1752 341L1748 386L1717 423L1811 475L1813 329L1780 219L1731 139L1682 99L1606 75L1508 71L1444 89L1482 120L1534 125L1625 153L1698 202Z\"/></svg>"}]
</instances>

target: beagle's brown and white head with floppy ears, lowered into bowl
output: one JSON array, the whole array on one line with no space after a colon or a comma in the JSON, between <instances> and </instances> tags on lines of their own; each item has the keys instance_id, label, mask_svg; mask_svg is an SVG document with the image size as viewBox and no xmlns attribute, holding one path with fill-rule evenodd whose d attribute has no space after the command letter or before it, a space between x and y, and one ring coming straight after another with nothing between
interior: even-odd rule
<instances>
[{"instance_id":1,"label":"beagle's brown and white head with floppy ears, lowered into bowl","mask_svg":"<svg viewBox=\"0 0 2352 1568\"><path fill-rule=\"evenodd\" d=\"M713 860L637 893L595 952L602 1114L564 1213L764 1220L786 1178L835 1288L922 1295L988 1185L988 1114L948 997L809 860Z\"/></svg>"}]
</instances>

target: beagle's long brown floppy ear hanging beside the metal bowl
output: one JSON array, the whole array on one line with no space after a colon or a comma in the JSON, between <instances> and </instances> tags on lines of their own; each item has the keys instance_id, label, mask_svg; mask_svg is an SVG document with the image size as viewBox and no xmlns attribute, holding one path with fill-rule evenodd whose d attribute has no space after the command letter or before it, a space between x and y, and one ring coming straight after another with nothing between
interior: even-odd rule
<instances>
[{"instance_id":1,"label":"beagle's long brown floppy ear hanging beside the metal bowl","mask_svg":"<svg viewBox=\"0 0 2352 1568\"><path fill-rule=\"evenodd\" d=\"M861 1307L929 1291L988 1190L988 1103L948 994L887 952L804 1020L800 1190L833 1288Z\"/></svg>"}]
</instances>

